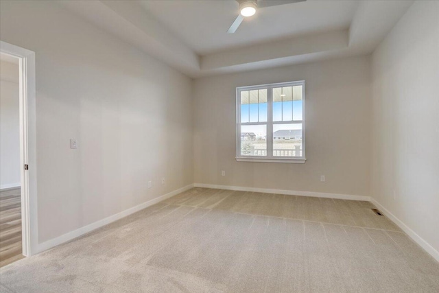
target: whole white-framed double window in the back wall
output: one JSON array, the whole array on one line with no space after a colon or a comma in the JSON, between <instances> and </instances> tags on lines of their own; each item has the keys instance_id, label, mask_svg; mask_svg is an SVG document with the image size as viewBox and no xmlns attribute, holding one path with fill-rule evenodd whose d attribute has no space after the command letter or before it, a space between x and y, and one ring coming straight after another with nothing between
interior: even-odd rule
<instances>
[{"instance_id":1,"label":"whole white-framed double window in the back wall","mask_svg":"<svg viewBox=\"0 0 439 293\"><path fill-rule=\"evenodd\" d=\"M305 82L237 88L237 161L305 163Z\"/></svg>"}]
</instances>

